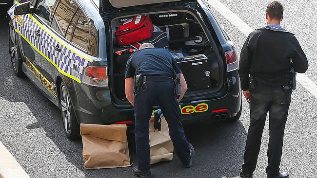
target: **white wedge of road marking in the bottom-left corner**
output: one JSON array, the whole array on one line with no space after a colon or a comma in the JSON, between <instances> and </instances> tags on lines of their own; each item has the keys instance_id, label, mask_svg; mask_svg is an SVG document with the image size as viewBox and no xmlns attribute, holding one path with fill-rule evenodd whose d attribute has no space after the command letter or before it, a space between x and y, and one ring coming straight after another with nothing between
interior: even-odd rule
<instances>
[{"instance_id":1,"label":"white wedge of road marking in the bottom-left corner","mask_svg":"<svg viewBox=\"0 0 317 178\"><path fill-rule=\"evenodd\" d=\"M0 154L0 178L30 178L1 142Z\"/></svg>"}]
</instances>

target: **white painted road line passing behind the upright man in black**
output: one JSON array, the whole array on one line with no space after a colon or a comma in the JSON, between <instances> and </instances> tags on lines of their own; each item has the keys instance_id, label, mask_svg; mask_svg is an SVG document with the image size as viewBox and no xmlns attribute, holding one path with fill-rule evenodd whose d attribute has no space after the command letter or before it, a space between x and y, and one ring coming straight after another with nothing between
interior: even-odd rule
<instances>
[{"instance_id":1,"label":"white painted road line passing behind the upright man in black","mask_svg":"<svg viewBox=\"0 0 317 178\"><path fill-rule=\"evenodd\" d=\"M248 24L241 18L233 13L219 0L208 0L208 3L215 8L224 18L229 20L231 24L238 28L245 36L249 36L254 31ZM317 98L317 85L303 73L297 73L296 81L307 89L315 98Z\"/></svg>"}]
</instances>

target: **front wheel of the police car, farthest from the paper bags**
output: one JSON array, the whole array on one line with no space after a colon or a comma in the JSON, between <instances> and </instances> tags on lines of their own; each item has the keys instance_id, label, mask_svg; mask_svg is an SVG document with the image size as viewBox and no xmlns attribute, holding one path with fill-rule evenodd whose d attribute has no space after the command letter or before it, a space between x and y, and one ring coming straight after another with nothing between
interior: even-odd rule
<instances>
[{"instance_id":1,"label":"front wheel of the police car, farthest from the paper bags","mask_svg":"<svg viewBox=\"0 0 317 178\"><path fill-rule=\"evenodd\" d=\"M9 53L10 53L13 71L18 77L24 77L25 74L22 71L23 61L21 58L19 43L17 40L17 34L14 30L12 20L10 20L9 22L8 31L9 31Z\"/></svg>"}]
</instances>

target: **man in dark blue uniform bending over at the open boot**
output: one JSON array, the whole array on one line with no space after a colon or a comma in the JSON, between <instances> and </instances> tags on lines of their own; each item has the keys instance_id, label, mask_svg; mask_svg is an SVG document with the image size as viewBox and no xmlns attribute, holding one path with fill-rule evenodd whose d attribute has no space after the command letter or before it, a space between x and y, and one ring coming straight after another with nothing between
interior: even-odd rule
<instances>
[{"instance_id":1,"label":"man in dark blue uniform bending over at the open boot","mask_svg":"<svg viewBox=\"0 0 317 178\"><path fill-rule=\"evenodd\" d=\"M178 99L174 94L174 79L177 74L181 76L181 93ZM187 85L184 76L168 50L154 48L151 43L144 43L140 46L139 51L131 55L125 71L125 94L135 108L135 138L139 165L133 168L133 176L152 178L150 171L149 120L153 106L157 104L165 116L171 140L183 167L189 168L192 166L194 147L187 142L179 121L180 109L178 102L182 99L186 90Z\"/></svg>"}]
</instances>

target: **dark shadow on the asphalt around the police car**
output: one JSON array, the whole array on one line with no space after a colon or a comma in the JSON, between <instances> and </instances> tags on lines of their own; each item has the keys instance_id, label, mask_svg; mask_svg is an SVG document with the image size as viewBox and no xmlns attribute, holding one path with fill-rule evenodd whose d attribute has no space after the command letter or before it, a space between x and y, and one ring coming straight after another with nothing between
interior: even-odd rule
<instances>
[{"instance_id":1,"label":"dark shadow on the asphalt around the police car","mask_svg":"<svg viewBox=\"0 0 317 178\"><path fill-rule=\"evenodd\" d=\"M0 12L1 13L1 12ZM129 178L132 167L101 170L83 170L81 141L69 141L63 131L59 109L51 103L27 78L18 78L12 71L7 50L7 26L3 13L0 15L0 97L10 102L23 102L31 110L37 122L28 125L28 129L43 128L49 137L65 155L66 160L77 166L86 178ZM193 167L181 168L176 154L173 161L152 166L152 173L162 178L221 178L238 175L242 163L242 154L246 132L237 122L212 125L185 125L188 141L196 150ZM133 136L129 135L131 162L136 162ZM39 143L40 144L40 143ZM54 158L46 158L54 159ZM41 165L35 165L41 166ZM41 168L45 169L45 168ZM32 173L30 173L32 176ZM54 174L54 173L51 173Z\"/></svg>"}]
</instances>

